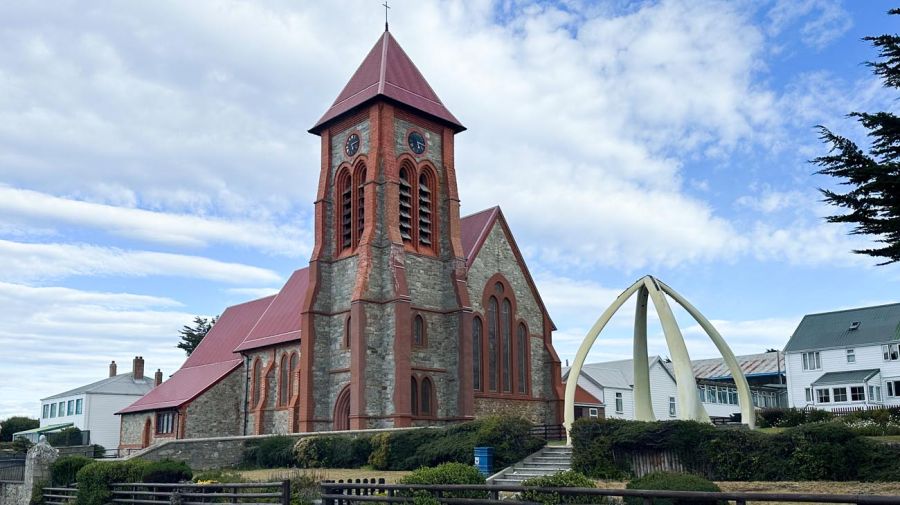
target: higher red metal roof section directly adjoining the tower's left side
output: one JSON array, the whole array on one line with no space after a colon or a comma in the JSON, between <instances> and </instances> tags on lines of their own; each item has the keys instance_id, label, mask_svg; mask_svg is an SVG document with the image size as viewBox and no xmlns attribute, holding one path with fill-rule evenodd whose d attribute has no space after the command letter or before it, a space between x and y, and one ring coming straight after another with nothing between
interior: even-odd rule
<instances>
[{"instance_id":1,"label":"higher red metal roof section directly adjoining the tower's left side","mask_svg":"<svg viewBox=\"0 0 900 505\"><path fill-rule=\"evenodd\" d=\"M247 338L234 348L246 351L300 339L300 310L309 286L309 268L295 271Z\"/></svg>"}]
</instances>

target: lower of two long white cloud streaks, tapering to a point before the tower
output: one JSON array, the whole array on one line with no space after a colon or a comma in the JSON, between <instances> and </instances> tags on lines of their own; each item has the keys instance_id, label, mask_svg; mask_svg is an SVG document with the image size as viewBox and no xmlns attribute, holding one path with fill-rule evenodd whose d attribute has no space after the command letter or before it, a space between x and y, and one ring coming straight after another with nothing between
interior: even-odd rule
<instances>
[{"instance_id":1,"label":"lower of two long white cloud streaks, tapering to a point before the tower","mask_svg":"<svg viewBox=\"0 0 900 505\"><path fill-rule=\"evenodd\" d=\"M228 284L277 283L264 268L199 256L124 251L87 244L38 244L0 240L0 280L42 281L71 276L173 276Z\"/></svg>"}]
</instances>

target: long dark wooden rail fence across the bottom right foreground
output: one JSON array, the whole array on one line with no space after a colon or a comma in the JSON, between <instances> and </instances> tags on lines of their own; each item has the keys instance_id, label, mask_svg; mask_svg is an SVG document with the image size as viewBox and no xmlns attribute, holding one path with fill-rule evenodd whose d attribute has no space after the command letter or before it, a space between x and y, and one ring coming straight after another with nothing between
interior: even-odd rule
<instances>
[{"instance_id":1,"label":"long dark wooden rail fence across the bottom right foreground","mask_svg":"<svg viewBox=\"0 0 900 505\"><path fill-rule=\"evenodd\" d=\"M522 493L537 491L554 493L557 496L578 496L583 500L600 503L604 497L639 498L644 504L652 505L655 499L677 499L681 503L713 503L731 501L736 505L748 502L780 503L852 503L860 505L900 503L900 496L836 495L801 493L710 493L700 491L648 491L638 489L596 489L596 488L540 488L522 486L470 486L470 485L399 485L384 484L322 484L322 505L355 505L360 503L411 503L413 494L426 492L440 503L448 505L497 505L500 493ZM456 498L465 493L467 498ZM477 498L476 498L477 496ZM504 505L537 505L534 502L519 501L519 495L503 500ZM587 500L584 500L587 498ZM563 498L560 501L565 501Z\"/></svg>"}]
</instances>

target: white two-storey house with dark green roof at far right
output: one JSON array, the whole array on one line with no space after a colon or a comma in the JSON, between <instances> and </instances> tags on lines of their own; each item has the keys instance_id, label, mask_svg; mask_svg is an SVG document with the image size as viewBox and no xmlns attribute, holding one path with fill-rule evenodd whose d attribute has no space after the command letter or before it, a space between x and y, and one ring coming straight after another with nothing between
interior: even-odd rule
<instances>
[{"instance_id":1,"label":"white two-storey house with dark green roof at far right","mask_svg":"<svg viewBox=\"0 0 900 505\"><path fill-rule=\"evenodd\" d=\"M900 405L900 303L806 315L784 352L792 407Z\"/></svg>"}]
</instances>

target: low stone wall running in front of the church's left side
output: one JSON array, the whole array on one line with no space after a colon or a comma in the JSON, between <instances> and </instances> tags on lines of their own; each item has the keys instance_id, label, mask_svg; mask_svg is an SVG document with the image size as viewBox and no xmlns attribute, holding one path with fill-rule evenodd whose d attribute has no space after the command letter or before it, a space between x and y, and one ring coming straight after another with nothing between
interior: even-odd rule
<instances>
[{"instance_id":1,"label":"low stone wall running in front of the church's left side","mask_svg":"<svg viewBox=\"0 0 900 505\"><path fill-rule=\"evenodd\" d=\"M360 436L374 435L393 431L416 430L419 428L388 428L380 430L354 430L354 431L315 431L309 433L289 433L286 435L248 435L239 437L216 438L184 438L179 440L166 440L131 454L126 459L141 458L150 461L161 459L174 459L184 461L194 470L210 470L214 468L229 468L241 463L244 451L258 440L275 436L291 437L300 440L306 437L322 437L328 435Z\"/></svg>"}]
</instances>

